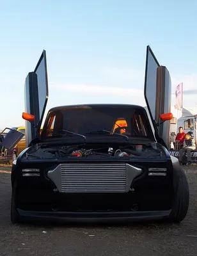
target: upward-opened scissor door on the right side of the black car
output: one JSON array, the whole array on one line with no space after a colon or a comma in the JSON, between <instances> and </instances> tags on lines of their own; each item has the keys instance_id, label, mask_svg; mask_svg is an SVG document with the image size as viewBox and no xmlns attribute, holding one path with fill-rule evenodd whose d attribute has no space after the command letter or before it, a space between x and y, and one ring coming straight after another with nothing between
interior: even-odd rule
<instances>
[{"instance_id":1,"label":"upward-opened scissor door on the right side of the black car","mask_svg":"<svg viewBox=\"0 0 197 256\"><path fill-rule=\"evenodd\" d=\"M145 100L152 119L157 140L169 145L170 120L157 126L160 115L171 111L171 78L168 69L159 65L152 49L146 47ZM161 140L162 141L161 141Z\"/></svg>"}]
</instances>

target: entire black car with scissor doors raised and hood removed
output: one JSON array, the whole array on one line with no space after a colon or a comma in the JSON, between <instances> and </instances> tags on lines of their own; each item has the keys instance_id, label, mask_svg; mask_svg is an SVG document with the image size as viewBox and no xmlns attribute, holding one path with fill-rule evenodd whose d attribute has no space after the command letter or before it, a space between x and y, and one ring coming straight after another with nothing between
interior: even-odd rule
<instances>
[{"instance_id":1,"label":"entire black car with scissor doors raised and hood removed","mask_svg":"<svg viewBox=\"0 0 197 256\"><path fill-rule=\"evenodd\" d=\"M27 148L12 166L13 223L184 220L187 179L168 152L170 76L149 46L147 109L126 104L60 106L49 110L40 134L47 99L43 51L26 78L22 116Z\"/></svg>"}]
</instances>

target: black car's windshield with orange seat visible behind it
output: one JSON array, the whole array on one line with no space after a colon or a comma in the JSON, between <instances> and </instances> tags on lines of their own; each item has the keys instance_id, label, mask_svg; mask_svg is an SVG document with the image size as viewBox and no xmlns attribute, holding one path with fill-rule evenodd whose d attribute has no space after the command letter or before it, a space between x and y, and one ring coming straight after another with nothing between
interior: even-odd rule
<instances>
[{"instance_id":1,"label":"black car's windshield with orange seat visible behind it","mask_svg":"<svg viewBox=\"0 0 197 256\"><path fill-rule=\"evenodd\" d=\"M132 106L73 106L54 109L47 116L41 138L80 138L79 134L86 138L101 137L106 134L109 136L110 132L114 137L125 134L129 137L153 138L145 109Z\"/></svg>"}]
</instances>

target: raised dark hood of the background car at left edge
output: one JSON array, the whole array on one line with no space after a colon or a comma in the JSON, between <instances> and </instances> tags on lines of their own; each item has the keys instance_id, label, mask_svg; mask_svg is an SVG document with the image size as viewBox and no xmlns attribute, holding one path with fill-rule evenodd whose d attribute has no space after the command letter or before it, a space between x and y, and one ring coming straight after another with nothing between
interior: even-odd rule
<instances>
[{"instance_id":1,"label":"raised dark hood of the background car at left edge","mask_svg":"<svg viewBox=\"0 0 197 256\"><path fill-rule=\"evenodd\" d=\"M10 131L5 132L6 130ZM0 147L5 147L12 151L23 136L22 132L6 127L0 134Z\"/></svg>"}]
</instances>

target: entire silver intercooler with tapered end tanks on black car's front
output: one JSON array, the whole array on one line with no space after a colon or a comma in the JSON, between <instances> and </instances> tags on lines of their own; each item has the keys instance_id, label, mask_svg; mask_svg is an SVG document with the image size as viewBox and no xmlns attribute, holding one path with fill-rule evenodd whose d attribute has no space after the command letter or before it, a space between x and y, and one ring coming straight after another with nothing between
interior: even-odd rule
<instances>
[{"instance_id":1,"label":"entire silver intercooler with tapered end tanks on black car's front","mask_svg":"<svg viewBox=\"0 0 197 256\"><path fill-rule=\"evenodd\" d=\"M63 163L48 177L61 193L127 193L141 172L126 163Z\"/></svg>"}]
</instances>

